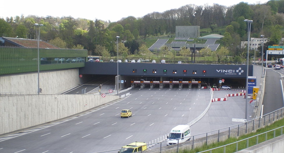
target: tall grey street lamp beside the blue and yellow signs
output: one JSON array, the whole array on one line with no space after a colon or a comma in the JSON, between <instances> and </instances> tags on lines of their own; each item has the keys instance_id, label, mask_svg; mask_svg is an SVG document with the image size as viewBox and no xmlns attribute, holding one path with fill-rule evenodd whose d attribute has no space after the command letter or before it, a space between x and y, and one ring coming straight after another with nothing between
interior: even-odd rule
<instances>
[{"instance_id":1,"label":"tall grey street lamp beside the blue and yellow signs","mask_svg":"<svg viewBox=\"0 0 284 153\"><path fill-rule=\"evenodd\" d=\"M248 62L249 62L249 38L250 38L250 27L253 23L253 20L245 19L245 22L248 22L248 53L247 53L247 81L246 81L246 112L245 119L248 120Z\"/></svg>"}]
</instances>

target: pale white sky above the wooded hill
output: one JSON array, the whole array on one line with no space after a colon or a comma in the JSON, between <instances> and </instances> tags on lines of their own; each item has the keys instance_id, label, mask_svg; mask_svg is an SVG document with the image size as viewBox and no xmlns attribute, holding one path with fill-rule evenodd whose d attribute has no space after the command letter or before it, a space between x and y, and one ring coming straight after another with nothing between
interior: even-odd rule
<instances>
[{"instance_id":1,"label":"pale white sky above the wooded hill","mask_svg":"<svg viewBox=\"0 0 284 153\"><path fill-rule=\"evenodd\" d=\"M213 3L232 6L240 2L248 4L262 4L268 0L177 0L177 1L163 1L160 0L89 0L89 1L63 1L63 0L14 0L3 1L0 5L0 18L15 16L54 16L63 17L71 16L73 18L84 18L88 20L103 20L116 22L128 16L136 18L143 17L152 12L165 12L171 9L177 9L187 4L195 4L197 6L212 6Z\"/></svg>"}]
</instances>

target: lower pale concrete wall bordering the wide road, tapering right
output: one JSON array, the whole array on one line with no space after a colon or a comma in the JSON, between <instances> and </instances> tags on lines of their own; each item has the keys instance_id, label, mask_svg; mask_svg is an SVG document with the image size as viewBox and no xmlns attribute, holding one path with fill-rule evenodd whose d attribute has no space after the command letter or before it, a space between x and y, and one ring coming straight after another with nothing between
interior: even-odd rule
<instances>
[{"instance_id":1,"label":"lower pale concrete wall bordering the wide road, tapering right","mask_svg":"<svg viewBox=\"0 0 284 153\"><path fill-rule=\"evenodd\" d=\"M65 118L118 98L117 95L0 96L0 134Z\"/></svg>"}]
</instances>

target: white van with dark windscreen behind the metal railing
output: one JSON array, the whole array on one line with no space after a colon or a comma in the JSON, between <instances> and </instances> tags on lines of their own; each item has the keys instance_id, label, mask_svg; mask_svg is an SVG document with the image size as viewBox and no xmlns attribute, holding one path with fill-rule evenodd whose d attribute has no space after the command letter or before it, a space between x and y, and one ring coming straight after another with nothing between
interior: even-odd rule
<instances>
[{"instance_id":1,"label":"white van with dark windscreen behind the metal railing","mask_svg":"<svg viewBox=\"0 0 284 153\"><path fill-rule=\"evenodd\" d=\"M185 142L187 140L190 140L189 125L178 125L171 129L167 140L167 146L177 144L177 142Z\"/></svg>"}]
</instances>

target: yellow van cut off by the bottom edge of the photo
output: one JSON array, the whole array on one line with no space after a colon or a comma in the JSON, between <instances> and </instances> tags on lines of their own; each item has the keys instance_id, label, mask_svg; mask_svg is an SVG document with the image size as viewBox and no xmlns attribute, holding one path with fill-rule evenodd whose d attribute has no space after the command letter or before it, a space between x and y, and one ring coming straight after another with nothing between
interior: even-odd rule
<instances>
[{"instance_id":1,"label":"yellow van cut off by the bottom edge of the photo","mask_svg":"<svg viewBox=\"0 0 284 153\"><path fill-rule=\"evenodd\" d=\"M129 145L123 146L118 153L131 153L147 150L147 143L145 142L133 142Z\"/></svg>"}]
</instances>

